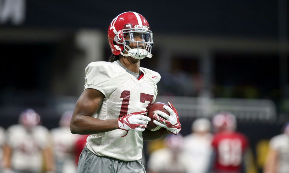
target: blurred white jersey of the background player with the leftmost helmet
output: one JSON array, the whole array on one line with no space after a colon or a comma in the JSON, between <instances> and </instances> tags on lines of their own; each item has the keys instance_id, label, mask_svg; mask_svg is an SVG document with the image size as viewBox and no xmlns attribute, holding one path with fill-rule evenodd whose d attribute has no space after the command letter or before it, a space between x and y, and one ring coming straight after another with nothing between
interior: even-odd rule
<instances>
[{"instance_id":1,"label":"blurred white jersey of the background player with the leftmost helmet","mask_svg":"<svg viewBox=\"0 0 289 173\"><path fill-rule=\"evenodd\" d=\"M28 132L22 125L7 129L8 144L12 147L11 164L14 170L40 172L43 164L42 150L49 145L49 131L36 126Z\"/></svg>"}]
</instances>

